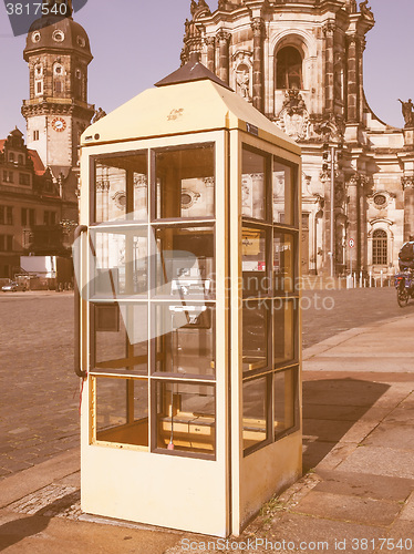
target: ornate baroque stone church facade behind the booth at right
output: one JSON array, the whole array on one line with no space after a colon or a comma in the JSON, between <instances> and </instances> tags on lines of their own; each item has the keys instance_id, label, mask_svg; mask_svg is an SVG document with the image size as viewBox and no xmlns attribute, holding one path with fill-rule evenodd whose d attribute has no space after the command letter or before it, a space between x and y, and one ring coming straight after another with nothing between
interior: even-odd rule
<instances>
[{"instance_id":1,"label":"ornate baroque stone church facade behind the booth at right","mask_svg":"<svg viewBox=\"0 0 414 554\"><path fill-rule=\"evenodd\" d=\"M414 235L413 104L382 122L363 88L368 0L192 0L198 59L302 148L302 271L392 275ZM280 214L280 223L283 214Z\"/></svg>"}]
</instances>

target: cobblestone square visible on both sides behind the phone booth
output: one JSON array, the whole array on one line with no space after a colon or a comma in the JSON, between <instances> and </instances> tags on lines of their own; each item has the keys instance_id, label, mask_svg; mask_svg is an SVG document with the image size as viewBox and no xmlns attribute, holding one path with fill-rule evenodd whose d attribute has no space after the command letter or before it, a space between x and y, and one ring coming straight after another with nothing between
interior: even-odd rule
<instances>
[{"instance_id":1,"label":"cobblestone square visible on both sides behind the phone booth","mask_svg":"<svg viewBox=\"0 0 414 554\"><path fill-rule=\"evenodd\" d=\"M332 306L334 305L333 309ZM414 312L392 288L307 291L303 345L342 330ZM73 372L73 296L0 296L0 479L79 442L79 380Z\"/></svg>"}]
</instances>

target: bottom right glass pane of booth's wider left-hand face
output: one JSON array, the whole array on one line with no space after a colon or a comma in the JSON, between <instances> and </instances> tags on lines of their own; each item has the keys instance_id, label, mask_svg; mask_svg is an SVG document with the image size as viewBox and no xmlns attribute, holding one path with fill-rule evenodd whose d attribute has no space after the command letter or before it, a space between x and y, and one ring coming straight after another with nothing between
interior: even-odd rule
<instances>
[{"instance_id":1,"label":"bottom right glass pane of booth's wider left-hand face","mask_svg":"<svg viewBox=\"0 0 414 554\"><path fill-rule=\"evenodd\" d=\"M205 382L155 380L153 388L156 397L156 433L153 433L153 450L214 458L215 386Z\"/></svg>"}]
</instances>

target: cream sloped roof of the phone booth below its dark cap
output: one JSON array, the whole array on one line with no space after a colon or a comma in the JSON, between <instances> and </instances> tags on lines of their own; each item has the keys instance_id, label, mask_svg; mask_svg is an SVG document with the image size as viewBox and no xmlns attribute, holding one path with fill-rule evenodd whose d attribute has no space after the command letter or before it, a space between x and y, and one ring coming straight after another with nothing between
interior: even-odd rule
<instances>
[{"instance_id":1,"label":"cream sloped roof of the phone booth below its dark cap","mask_svg":"<svg viewBox=\"0 0 414 554\"><path fill-rule=\"evenodd\" d=\"M147 89L87 127L81 146L248 127L260 138L300 155L300 147L275 123L210 79Z\"/></svg>"}]
</instances>

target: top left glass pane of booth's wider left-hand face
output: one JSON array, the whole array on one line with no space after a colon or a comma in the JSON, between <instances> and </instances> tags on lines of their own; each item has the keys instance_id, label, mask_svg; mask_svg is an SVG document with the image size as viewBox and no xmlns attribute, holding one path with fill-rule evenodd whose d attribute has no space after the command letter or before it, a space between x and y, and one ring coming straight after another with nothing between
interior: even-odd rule
<instances>
[{"instance_id":1,"label":"top left glass pane of booth's wider left-hand face","mask_svg":"<svg viewBox=\"0 0 414 554\"><path fill-rule=\"evenodd\" d=\"M91 219L148 220L147 152L126 152L94 160Z\"/></svg>"}]
</instances>

